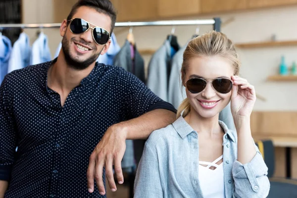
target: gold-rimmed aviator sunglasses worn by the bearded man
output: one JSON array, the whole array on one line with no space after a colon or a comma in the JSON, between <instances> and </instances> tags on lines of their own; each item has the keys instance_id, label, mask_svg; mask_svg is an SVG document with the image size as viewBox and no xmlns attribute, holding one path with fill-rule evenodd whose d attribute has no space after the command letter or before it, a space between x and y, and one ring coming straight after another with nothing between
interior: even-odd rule
<instances>
[{"instance_id":1,"label":"gold-rimmed aviator sunglasses worn by the bearded man","mask_svg":"<svg viewBox=\"0 0 297 198\"><path fill-rule=\"evenodd\" d=\"M81 34L81 33L87 32L89 28L92 28L90 26L90 24L92 23L89 23L88 21L81 18L74 18L68 21L70 21L70 30L74 34ZM110 34L107 30L97 26L92 29L93 29L92 31L93 38L95 42L98 43L99 45L106 44L107 41L110 39Z\"/></svg>"}]
</instances>

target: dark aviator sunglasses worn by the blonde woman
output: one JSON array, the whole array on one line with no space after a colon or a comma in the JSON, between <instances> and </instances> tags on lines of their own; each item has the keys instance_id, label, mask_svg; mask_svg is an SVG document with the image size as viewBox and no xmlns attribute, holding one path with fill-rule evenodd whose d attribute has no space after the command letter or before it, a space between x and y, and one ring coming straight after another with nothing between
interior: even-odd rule
<instances>
[{"instance_id":1,"label":"dark aviator sunglasses worn by the blonde woman","mask_svg":"<svg viewBox=\"0 0 297 198\"><path fill-rule=\"evenodd\" d=\"M232 90L233 82L228 78L214 78L209 82L213 89L221 94L227 94ZM207 81L203 78L191 78L187 81L186 86L190 93L197 94L205 89L206 84Z\"/></svg>"}]
</instances>

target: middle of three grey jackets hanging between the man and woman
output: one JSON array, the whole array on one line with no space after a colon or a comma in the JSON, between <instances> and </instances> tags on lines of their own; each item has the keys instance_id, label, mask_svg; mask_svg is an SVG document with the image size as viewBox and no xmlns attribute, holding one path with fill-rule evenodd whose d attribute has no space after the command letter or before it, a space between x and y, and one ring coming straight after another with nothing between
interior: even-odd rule
<instances>
[{"instance_id":1,"label":"middle of three grey jackets hanging between the man and woman","mask_svg":"<svg viewBox=\"0 0 297 198\"><path fill-rule=\"evenodd\" d=\"M148 63L148 88L161 99L168 101L168 71L170 71L171 46L170 41L164 44L152 55Z\"/></svg>"}]
</instances>

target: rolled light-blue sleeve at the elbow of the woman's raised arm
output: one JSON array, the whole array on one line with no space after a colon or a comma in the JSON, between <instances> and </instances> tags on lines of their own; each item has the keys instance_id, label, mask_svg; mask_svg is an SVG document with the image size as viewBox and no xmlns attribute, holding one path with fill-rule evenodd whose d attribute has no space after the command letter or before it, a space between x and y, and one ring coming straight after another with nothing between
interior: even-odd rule
<instances>
[{"instance_id":1,"label":"rolled light-blue sleeve at the elbow of the woman's raised arm","mask_svg":"<svg viewBox=\"0 0 297 198\"><path fill-rule=\"evenodd\" d=\"M246 164L236 160L232 173L235 181L235 197L266 198L268 196L270 189L268 168L259 151Z\"/></svg>"}]
</instances>

